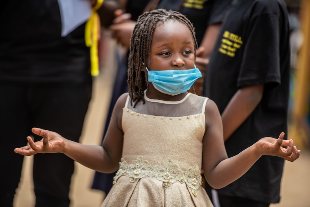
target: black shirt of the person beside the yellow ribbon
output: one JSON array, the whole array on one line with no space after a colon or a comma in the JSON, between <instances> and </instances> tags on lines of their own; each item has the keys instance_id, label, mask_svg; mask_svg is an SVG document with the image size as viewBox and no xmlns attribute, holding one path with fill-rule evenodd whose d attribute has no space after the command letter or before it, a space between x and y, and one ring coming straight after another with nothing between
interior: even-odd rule
<instances>
[{"instance_id":1,"label":"black shirt of the person beside the yellow ribbon","mask_svg":"<svg viewBox=\"0 0 310 207\"><path fill-rule=\"evenodd\" d=\"M85 23L61 37L57 0L11 0L2 8L0 81L85 83L91 81Z\"/></svg>"}]
</instances>

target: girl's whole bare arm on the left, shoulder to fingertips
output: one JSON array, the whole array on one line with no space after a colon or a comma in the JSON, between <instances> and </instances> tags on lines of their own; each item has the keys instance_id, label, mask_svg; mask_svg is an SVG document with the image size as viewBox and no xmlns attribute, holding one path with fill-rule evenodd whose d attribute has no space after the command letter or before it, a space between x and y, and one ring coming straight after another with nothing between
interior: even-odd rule
<instances>
[{"instance_id":1,"label":"girl's whole bare arm on the left, shoulder to fingertips","mask_svg":"<svg viewBox=\"0 0 310 207\"><path fill-rule=\"evenodd\" d=\"M128 93L123 94L116 102L103 146L80 144L65 139L58 133L33 128L32 132L42 136L42 140L33 142L31 137L27 137L29 146L16 148L14 151L27 156L37 153L60 152L96 171L104 173L115 172L122 156L122 109L125 106L127 95Z\"/></svg>"}]
</instances>

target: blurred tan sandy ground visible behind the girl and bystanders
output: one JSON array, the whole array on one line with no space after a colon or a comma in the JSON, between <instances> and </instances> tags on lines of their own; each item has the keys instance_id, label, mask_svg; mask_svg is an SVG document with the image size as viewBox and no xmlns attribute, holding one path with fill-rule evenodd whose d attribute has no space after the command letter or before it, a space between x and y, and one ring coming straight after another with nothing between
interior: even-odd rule
<instances>
[{"instance_id":1,"label":"blurred tan sandy ground visible behind the girl and bystanders","mask_svg":"<svg viewBox=\"0 0 310 207\"><path fill-rule=\"evenodd\" d=\"M107 38L107 37L104 37ZM80 141L84 144L100 145L104 122L110 102L112 80L115 75L114 42L106 39L101 55L103 59L100 75L94 79L93 97L86 115ZM290 137L293 138L293 137ZM299 147L300 148L300 147ZM17 190L14 206L34 206L32 184L32 157L25 157L21 182ZM76 163L71 184L70 207L100 206L104 194L91 189L94 171ZM281 202L271 207L310 207L310 152L303 149L295 162L285 163L281 187Z\"/></svg>"}]
</instances>

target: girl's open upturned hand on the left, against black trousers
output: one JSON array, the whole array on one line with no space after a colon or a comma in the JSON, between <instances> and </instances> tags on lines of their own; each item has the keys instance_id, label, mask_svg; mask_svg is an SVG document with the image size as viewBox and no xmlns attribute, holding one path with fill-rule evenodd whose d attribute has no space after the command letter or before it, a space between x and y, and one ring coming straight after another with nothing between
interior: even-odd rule
<instances>
[{"instance_id":1,"label":"girl's open upturned hand on the left, against black trousers","mask_svg":"<svg viewBox=\"0 0 310 207\"><path fill-rule=\"evenodd\" d=\"M32 137L27 137L29 146L15 148L15 153L29 156L35 155L37 153L62 152L62 150L64 149L65 139L58 133L44 130L41 128L32 128L31 131L34 134L39 135L43 138L38 142L33 142Z\"/></svg>"}]
</instances>

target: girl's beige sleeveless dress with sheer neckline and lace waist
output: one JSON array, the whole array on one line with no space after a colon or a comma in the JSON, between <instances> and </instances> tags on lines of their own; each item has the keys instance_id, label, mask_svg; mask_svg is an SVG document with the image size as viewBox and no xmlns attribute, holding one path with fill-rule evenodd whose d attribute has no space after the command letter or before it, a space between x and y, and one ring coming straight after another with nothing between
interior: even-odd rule
<instances>
[{"instance_id":1,"label":"girl's beige sleeveless dress with sheer neckline and lace waist","mask_svg":"<svg viewBox=\"0 0 310 207\"><path fill-rule=\"evenodd\" d=\"M181 101L146 97L123 109L120 168L103 206L208 206L201 187L202 138L208 98L188 93Z\"/></svg>"}]
</instances>

